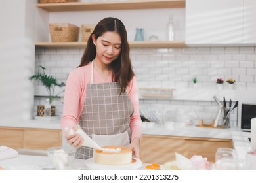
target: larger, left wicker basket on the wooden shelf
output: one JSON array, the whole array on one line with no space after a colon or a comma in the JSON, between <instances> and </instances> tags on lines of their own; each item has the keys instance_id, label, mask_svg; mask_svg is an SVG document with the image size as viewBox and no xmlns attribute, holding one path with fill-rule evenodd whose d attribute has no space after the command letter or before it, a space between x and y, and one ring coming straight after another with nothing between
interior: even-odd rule
<instances>
[{"instance_id":1,"label":"larger, left wicker basket on the wooden shelf","mask_svg":"<svg viewBox=\"0 0 256 183\"><path fill-rule=\"evenodd\" d=\"M79 27L73 24L50 24L52 42L78 41Z\"/></svg>"}]
</instances>

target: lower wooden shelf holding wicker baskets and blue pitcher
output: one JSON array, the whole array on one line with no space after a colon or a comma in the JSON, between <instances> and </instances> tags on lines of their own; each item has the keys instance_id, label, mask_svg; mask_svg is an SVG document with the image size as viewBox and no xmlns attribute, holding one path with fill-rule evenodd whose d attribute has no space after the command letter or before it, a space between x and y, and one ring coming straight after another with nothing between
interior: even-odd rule
<instances>
[{"instance_id":1,"label":"lower wooden shelf holding wicker baskets and blue pitcher","mask_svg":"<svg viewBox=\"0 0 256 183\"><path fill-rule=\"evenodd\" d=\"M184 41L133 41L129 42L131 48L184 48ZM41 48L85 48L87 42L37 42L36 47Z\"/></svg>"}]
</instances>

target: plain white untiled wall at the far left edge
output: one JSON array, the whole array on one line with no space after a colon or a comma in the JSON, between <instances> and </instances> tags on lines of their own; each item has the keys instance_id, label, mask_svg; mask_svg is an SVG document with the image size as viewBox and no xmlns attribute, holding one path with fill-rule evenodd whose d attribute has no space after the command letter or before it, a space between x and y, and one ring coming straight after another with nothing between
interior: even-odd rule
<instances>
[{"instance_id":1,"label":"plain white untiled wall at the far left edge","mask_svg":"<svg viewBox=\"0 0 256 183\"><path fill-rule=\"evenodd\" d=\"M32 118L36 0L1 1L0 124Z\"/></svg>"}]
</instances>

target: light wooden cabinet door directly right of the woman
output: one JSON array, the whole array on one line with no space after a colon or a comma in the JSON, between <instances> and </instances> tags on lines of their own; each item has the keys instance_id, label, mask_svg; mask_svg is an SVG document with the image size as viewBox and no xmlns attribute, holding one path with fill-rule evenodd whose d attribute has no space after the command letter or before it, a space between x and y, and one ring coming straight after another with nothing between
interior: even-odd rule
<instances>
[{"instance_id":1,"label":"light wooden cabinet door directly right of the woman","mask_svg":"<svg viewBox=\"0 0 256 183\"><path fill-rule=\"evenodd\" d=\"M175 152L184 154L185 140L179 137L143 135L140 159L142 163L166 163L174 161Z\"/></svg>"}]
</instances>

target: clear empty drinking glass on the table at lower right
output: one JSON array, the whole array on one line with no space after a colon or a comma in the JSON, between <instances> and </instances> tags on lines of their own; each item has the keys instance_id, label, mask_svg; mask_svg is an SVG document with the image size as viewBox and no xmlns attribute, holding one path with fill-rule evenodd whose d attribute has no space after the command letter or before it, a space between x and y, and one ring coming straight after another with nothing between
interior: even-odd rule
<instances>
[{"instance_id":1,"label":"clear empty drinking glass on the table at lower right","mask_svg":"<svg viewBox=\"0 0 256 183\"><path fill-rule=\"evenodd\" d=\"M218 148L215 154L216 169L236 170L239 169L238 155L232 148Z\"/></svg>"}]
</instances>

